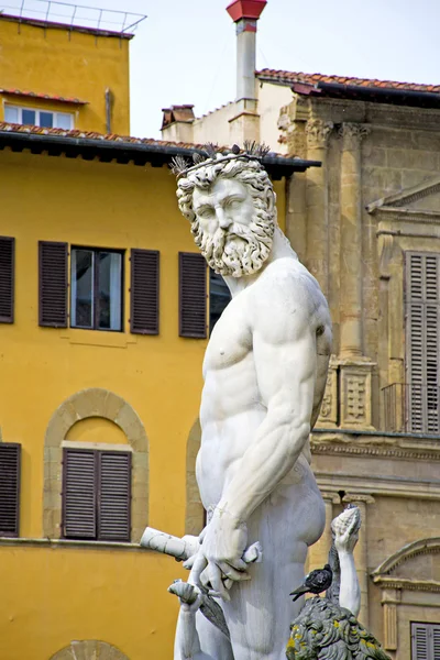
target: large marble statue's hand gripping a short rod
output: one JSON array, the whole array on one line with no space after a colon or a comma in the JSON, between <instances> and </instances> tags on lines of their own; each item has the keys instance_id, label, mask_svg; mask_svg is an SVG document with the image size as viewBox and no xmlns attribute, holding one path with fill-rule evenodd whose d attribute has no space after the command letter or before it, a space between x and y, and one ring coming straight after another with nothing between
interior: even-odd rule
<instances>
[{"instance_id":1,"label":"large marble statue's hand gripping a short rod","mask_svg":"<svg viewBox=\"0 0 440 660\"><path fill-rule=\"evenodd\" d=\"M242 559L246 544L246 525L217 508L204 530L191 579L211 595L229 601L228 590L233 582L250 580L248 564Z\"/></svg>"}]
</instances>

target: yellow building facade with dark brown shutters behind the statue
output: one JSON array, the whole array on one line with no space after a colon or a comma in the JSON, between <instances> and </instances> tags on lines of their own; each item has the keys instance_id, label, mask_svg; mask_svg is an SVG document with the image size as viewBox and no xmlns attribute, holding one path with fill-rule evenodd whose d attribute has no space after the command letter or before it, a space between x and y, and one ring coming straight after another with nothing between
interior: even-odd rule
<instances>
[{"instance_id":1,"label":"yellow building facade with dark brown shutters behind the statue","mask_svg":"<svg viewBox=\"0 0 440 660\"><path fill-rule=\"evenodd\" d=\"M88 50L127 131L128 41L45 31L42 54L41 25L0 19L2 89L89 103L74 130L0 122L0 658L167 660L177 616L167 586L185 572L139 541L146 525L182 536L204 522L194 465L215 294L168 168L194 148L97 134L103 86L79 72L57 78L59 63L66 72L72 48ZM32 48L56 70L32 74ZM19 96L2 92L2 111ZM282 228L292 175L308 165L266 157ZM185 279L193 258L196 278ZM129 470L109 472L121 457Z\"/></svg>"}]
</instances>

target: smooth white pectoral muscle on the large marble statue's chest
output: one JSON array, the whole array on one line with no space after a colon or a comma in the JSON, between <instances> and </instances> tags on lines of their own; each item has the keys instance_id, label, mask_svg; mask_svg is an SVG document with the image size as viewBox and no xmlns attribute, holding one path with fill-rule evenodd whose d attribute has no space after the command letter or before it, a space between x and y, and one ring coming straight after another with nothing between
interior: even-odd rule
<instances>
[{"instance_id":1,"label":"smooth white pectoral muscle on the large marble statue's chest","mask_svg":"<svg viewBox=\"0 0 440 660\"><path fill-rule=\"evenodd\" d=\"M204 375L242 362L252 352L246 292L233 298L217 321L205 354Z\"/></svg>"}]
</instances>

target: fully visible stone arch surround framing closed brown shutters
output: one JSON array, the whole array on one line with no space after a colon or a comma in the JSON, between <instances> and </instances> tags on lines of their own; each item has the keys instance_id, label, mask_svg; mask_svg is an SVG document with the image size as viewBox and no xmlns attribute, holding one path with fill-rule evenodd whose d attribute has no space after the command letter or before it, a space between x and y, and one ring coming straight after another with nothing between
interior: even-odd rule
<instances>
[{"instance_id":1,"label":"fully visible stone arch surround framing closed brown shutters","mask_svg":"<svg viewBox=\"0 0 440 660\"><path fill-rule=\"evenodd\" d=\"M113 392L90 387L75 393L53 414L44 439L43 536L59 539L62 525L63 442L74 425L99 418L124 433L132 455L132 542L139 542L148 522L148 440L135 410ZM99 449L99 444L94 444Z\"/></svg>"}]
</instances>

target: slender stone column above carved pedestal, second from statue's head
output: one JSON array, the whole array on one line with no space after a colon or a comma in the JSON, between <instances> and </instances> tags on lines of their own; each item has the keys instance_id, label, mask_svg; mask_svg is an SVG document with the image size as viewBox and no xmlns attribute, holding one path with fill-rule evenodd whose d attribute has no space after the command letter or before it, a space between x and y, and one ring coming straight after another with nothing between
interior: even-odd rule
<instances>
[{"instance_id":1,"label":"slender stone column above carved pedestal, second from statue's head","mask_svg":"<svg viewBox=\"0 0 440 660\"><path fill-rule=\"evenodd\" d=\"M362 209L361 141L369 130L343 123L341 151L341 356L362 351Z\"/></svg>"}]
</instances>

